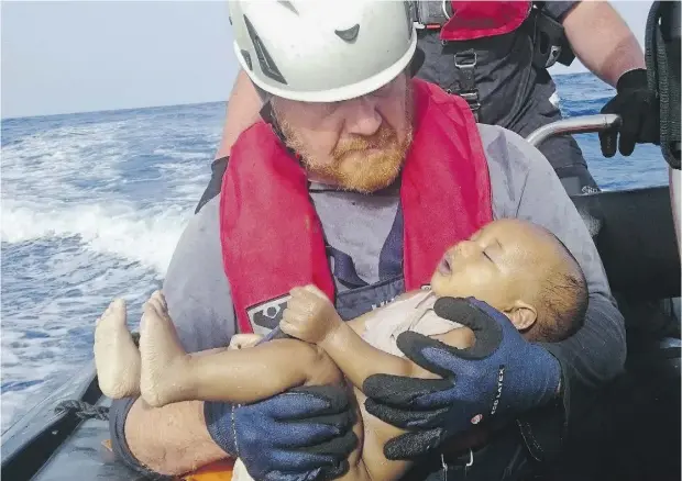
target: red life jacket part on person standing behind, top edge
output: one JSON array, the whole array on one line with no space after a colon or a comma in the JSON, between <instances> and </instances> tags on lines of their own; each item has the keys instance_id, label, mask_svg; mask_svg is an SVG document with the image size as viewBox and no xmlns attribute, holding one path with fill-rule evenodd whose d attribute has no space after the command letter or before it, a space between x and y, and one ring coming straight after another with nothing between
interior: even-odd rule
<instances>
[{"instance_id":1,"label":"red life jacket part on person standing behind, top edge","mask_svg":"<svg viewBox=\"0 0 682 481\"><path fill-rule=\"evenodd\" d=\"M530 1L451 1L452 15L440 30L440 40L469 41L509 33L528 18Z\"/></svg>"}]
</instances>

